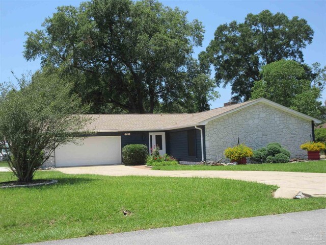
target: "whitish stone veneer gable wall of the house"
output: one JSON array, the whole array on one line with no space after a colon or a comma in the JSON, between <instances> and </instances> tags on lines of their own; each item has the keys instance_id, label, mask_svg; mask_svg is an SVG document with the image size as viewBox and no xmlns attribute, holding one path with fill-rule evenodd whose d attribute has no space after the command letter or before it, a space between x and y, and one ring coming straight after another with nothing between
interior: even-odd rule
<instances>
[{"instance_id":1,"label":"whitish stone veneer gable wall of the house","mask_svg":"<svg viewBox=\"0 0 326 245\"><path fill-rule=\"evenodd\" d=\"M224 150L236 145L238 137L253 149L279 142L291 158L306 158L307 152L299 146L311 140L311 134L311 121L259 103L205 125L206 161L225 158Z\"/></svg>"}]
</instances>

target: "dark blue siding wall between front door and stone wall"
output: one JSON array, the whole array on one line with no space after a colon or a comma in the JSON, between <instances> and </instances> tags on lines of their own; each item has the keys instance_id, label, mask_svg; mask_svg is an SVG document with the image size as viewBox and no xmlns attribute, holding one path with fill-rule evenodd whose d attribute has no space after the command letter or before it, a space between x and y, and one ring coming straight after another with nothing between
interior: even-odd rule
<instances>
[{"instance_id":1,"label":"dark blue siding wall between front door and stone wall","mask_svg":"<svg viewBox=\"0 0 326 245\"><path fill-rule=\"evenodd\" d=\"M173 130L173 131L166 132L167 153L175 157L179 161L199 162L202 160L200 130L196 129L196 157L189 157L188 156L188 134L187 134L187 130L189 129L194 129L194 128L187 128L187 129L180 129L180 130Z\"/></svg>"}]
</instances>

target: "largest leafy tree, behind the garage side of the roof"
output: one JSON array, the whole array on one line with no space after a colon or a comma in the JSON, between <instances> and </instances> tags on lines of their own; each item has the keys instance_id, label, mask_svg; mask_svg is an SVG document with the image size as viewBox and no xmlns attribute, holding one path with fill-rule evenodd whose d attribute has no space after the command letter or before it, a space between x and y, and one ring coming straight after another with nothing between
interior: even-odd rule
<instances>
[{"instance_id":1,"label":"largest leafy tree, behind the garage side of the roof","mask_svg":"<svg viewBox=\"0 0 326 245\"><path fill-rule=\"evenodd\" d=\"M190 112L207 109L216 95L209 76L193 69L202 23L188 21L178 8L153 0L93 0L59 7L43 27L26 33L24 57L60 67L83 103L91 103L90 112Z\"/></svg>"}]
</instances>

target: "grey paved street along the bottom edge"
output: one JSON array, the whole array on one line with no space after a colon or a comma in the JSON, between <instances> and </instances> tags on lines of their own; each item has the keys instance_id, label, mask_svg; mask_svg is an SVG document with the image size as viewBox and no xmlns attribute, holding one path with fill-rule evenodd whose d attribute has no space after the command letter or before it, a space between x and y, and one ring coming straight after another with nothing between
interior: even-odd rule
<instances>
[{"instance_id":1,"label":"grey paved street along the bottom edge","mask_svg":"<svg viewBox=\"0 0 326 245\"><path fill-rule=\"evenodd\" d=\"M35 245L325 244L326 210L116 233Z\"/></svg>"}]
</instances>

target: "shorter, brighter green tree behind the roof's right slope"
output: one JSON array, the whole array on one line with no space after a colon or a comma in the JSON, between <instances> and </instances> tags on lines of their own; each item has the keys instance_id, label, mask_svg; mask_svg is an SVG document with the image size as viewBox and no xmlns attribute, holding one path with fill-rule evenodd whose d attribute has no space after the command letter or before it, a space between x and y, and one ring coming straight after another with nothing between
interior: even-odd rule
<instances>
[{"instance_id":1,"label":"shorter, brighter green tree behind the roof's right slope","mask_svg":"<svg viewBox=\"0 0 326 245\"><path fill-rule=\"evenodd\" d=\"M264 97L313 117L322 117L321 87L316 87L310 67L293 60L263 66L261 80L254 83L251 98ZM319 75L318 75L319 76Z\"/></svg>"}]
</instances>

